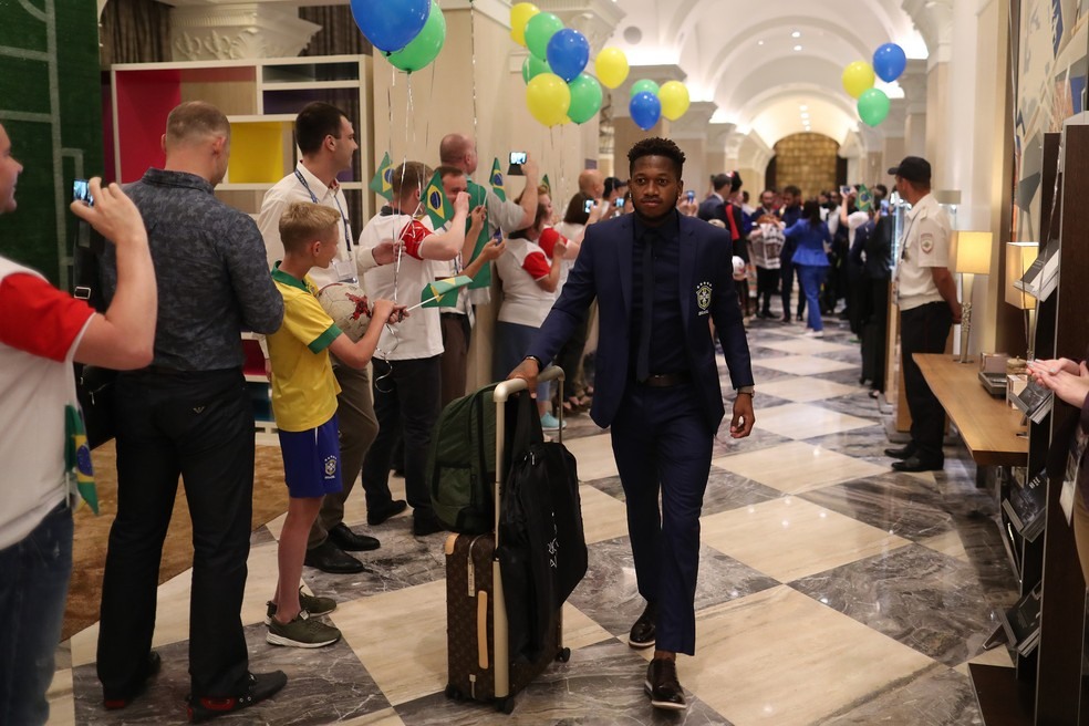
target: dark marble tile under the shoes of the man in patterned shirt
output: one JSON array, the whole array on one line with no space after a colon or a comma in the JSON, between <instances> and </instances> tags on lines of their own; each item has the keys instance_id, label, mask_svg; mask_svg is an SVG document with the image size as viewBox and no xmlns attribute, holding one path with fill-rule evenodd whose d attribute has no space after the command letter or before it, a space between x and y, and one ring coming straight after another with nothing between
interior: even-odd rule
<instances>
[{"instance_id":1,"label":"dark marble tile under the shoes of the man in patterned shirt","mask_svg":"<svg viewBox=\"0 0 1089 726\"><path fill-rule=\"evenodd\" d=\"M320 650L277 647L265 642L265 625L246 629L250 671L283 671L288 685L273 698L225 716L216 723L319 726L335 724L390 707L374 680L349 645L341 641ZM102 707L95 666L72 673L76 724L185 724L189 693L188 642L156 649L163 670L146 693L122 711Z\"/></svg>"}]
</instances>

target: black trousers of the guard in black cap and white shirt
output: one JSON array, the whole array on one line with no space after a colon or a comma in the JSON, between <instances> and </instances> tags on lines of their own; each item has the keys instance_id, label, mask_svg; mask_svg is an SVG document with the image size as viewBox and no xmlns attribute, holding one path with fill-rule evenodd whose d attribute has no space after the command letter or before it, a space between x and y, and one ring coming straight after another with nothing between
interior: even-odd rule
<instances>
[{"instance_id":1,"label":"black trousers of the guard in black cap and white shirt","mask_svg":"<svg viewBox=\"0 0 1089 726\"><path fill-rule=\"evenodd\" d=\"M913 353L943 353L953 325L948 303L930 302L900 311L900 350L903 354L904 393L911 411L911 440L917 456L927 461L942 461L942 438L945 434L945 409L926 385Z\"/></svg>"}]
</instances>

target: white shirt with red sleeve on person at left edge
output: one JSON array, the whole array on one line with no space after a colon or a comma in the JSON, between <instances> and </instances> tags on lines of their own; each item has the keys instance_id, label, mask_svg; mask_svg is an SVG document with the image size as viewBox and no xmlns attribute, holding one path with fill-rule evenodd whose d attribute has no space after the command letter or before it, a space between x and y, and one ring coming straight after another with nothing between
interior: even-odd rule
<instances>
[{"instance_id":1,"label":"white shirt with red sleeve on person at left edge","mask_svg":"<svg viewBox=\"0 0 1089 726\"><path fill-rule=\"evenodd\" d=\"M64 408L77 405L72 357L92 310L0 257L0 549L68 496Z\"/></svg>"}]
</instances>

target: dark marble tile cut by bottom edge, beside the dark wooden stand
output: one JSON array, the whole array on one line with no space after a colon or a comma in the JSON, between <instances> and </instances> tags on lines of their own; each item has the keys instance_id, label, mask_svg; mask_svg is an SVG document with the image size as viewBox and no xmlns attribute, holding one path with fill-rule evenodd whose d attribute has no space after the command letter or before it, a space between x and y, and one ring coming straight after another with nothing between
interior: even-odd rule
<instances>
[{"instance_id":1,"label":"dark marble tile cut by bottom edge, beside the dark wooden stand","mask_svg":"<svg viewBox=\"0 0 1089 726\"><path fill-rule=\"evenodd\" d=\"M935 664L906 682L894 682L813 726L974 726L982 724L971 681Z\"/></svg>"}]
</instances>

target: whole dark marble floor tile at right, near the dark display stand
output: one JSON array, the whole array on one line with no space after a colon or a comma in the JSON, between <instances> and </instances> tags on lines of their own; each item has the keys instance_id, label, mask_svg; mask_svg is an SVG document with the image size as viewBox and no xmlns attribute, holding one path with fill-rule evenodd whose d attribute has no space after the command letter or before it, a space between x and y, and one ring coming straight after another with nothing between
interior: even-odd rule
<instances>
[{"instance_id":1,"label":"whole dark marble floor tile at right, near the dark display stand","mask_svg":"<svg viewBox=\"0 0 1089 726\"><path fill-rule=\"evenodd\" d=\"M998 623L971 564L917 544L790 587L948 666L983 652Z\"/></svg>"}]
</instances>

